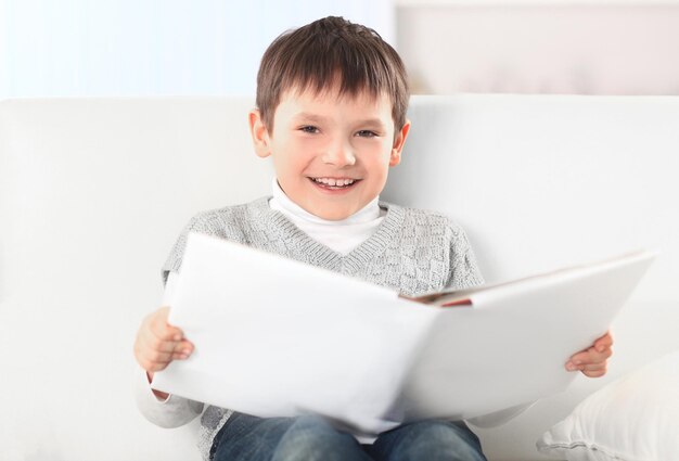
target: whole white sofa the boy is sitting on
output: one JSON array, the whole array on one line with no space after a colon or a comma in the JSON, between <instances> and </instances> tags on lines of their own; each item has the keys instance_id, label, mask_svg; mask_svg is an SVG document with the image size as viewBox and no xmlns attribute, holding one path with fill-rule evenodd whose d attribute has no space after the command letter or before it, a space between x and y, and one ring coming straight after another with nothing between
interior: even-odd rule
<instances>
[{"instance_id":1,"label":"whole white sofa the boy is sitting on","mask_svg":"<svg viewBox=\"0 0 679 461\"><path fill-rule=\"evenodd\" d=\"M138 413L132 343L187 220L268 193L252 105L0 102L0 459L198 459L196 422ZM383 199L453 216L488 281L659 252L613 325L606 377L478 430L491 461L543 459L536 439L585 396L679 348L679 98L413 97L410 118Z\"/></svg>"}]
</instances>

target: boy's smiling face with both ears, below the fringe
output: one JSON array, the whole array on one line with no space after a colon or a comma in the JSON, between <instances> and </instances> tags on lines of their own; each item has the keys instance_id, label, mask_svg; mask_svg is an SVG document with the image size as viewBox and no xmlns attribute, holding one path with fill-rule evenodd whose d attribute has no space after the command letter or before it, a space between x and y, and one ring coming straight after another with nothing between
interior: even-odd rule
<instances>
[{"instance_id":1,"label":"boy's smiling face with both ears, below the fringe","mask_svg":"<svg viewBox=\"0 0 679 461\"><path fill-rule=\"evenodd\" d=\"M255 150L271 155L281 189L323 219L351 216L373 201L400 162L410 124L394 132L387 95L338 95L337 91L287 91L273 115L273 130L258 111L249 114Z\"/></svg>"}]
</instances>

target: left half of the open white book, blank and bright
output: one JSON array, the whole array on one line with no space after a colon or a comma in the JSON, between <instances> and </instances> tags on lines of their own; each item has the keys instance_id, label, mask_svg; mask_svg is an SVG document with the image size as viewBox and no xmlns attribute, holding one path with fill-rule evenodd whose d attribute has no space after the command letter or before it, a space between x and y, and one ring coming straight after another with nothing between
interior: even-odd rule
<instances>
[{"instance_id":1,"label":"left half of the open white book, blank and bright","mask_svg":"<svg viewBox=\"0 0 679 461\"><path fill-rule=\"evenodd\" d=\"M315 412L377 433L437 309L191 234L169 322L195 350L153 387L260 417Z\"/></svg>"}]
</instances>

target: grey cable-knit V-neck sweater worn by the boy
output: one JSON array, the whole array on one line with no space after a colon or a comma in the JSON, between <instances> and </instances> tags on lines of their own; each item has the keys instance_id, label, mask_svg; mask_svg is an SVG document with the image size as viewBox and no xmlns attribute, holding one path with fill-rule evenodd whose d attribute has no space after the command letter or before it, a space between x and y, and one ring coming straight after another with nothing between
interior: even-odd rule
<instances>
[{"instance_id":1,"label":"grey cable-knit V-neck sweater worn by the boy","mask_svg":"<svg viewBox=\"0 0 679 461\"><path fill-rule=\"evenodd\" d=\"M419 209L380 203L386 216L376 232L347 255L313 241L281 213L272 210L269 197L205 212L185 227L163 267L164 280L179 272L189 232L200 232L243 243L270 253L356 277L407 295L444 287L469 287L483 282L466 235L448 218ZM161 425L179 425L203 410L200 402L177 396L162 410ZM153 414L145 414L154 420ZM209 406L201 418L198 447L205 460L213 439L231 411ZM154 421L155 422L155 421ZM157 422L156 422L157 423Z\"/></svg>"}]
</instances>

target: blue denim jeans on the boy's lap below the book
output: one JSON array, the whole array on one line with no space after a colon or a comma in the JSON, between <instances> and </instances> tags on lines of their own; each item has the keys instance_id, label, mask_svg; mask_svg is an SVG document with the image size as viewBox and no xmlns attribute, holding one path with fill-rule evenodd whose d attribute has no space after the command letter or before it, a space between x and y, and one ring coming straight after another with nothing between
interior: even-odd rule
<instances>
[{"instance_id":1,"label":"blue denim jeans on the boy's lap below the book","mask_svg":"<svg viewBox=\"0 0 679 461\"><path fill-rule=\"evenodd\" d=\"M233 413L215 436L214 461L486 461L463 422L421 421L359 444L319 417L257 418Z\"/></svg>"}]
</instances>

